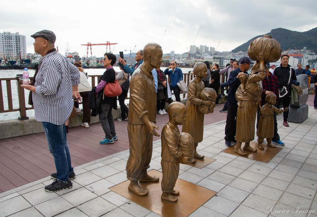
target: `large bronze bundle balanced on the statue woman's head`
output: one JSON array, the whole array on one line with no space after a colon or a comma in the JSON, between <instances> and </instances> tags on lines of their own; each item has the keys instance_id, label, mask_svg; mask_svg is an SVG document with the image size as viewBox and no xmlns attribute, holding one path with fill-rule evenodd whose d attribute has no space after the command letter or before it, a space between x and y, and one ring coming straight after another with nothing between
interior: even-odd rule
<instances>
[{"instance_id":1,"label":"large bronze bundle balanced on the statue woman's head","mask_svg":"<svg viewBox=\"0 0 317 217\"><path fill-rule=\"evenodd\" d=\"M248 55L253 60L258 60L259 53L264 53L265 62L276 62L281 57L281 46L271 35L264 35L254 39L248 47Z\"/></svg>"}]
</instances>

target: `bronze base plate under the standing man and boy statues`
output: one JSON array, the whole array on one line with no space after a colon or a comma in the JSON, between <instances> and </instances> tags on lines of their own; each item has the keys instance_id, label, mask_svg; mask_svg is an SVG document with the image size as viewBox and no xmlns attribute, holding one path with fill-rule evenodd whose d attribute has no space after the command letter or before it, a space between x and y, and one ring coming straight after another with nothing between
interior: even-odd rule
<instances>
[{"instance_id":1,"label":"bronze base plate under the standing man and boy statues","mask_svg":"<svg viewBox=\"0 0 317 217\"><path fill-rule=\"evenodd\" d=\"M197 208L202 206L205 202L207 202L211 197L217 194L216 191L206 189L178 178L174 188L174 190L180 191L179 196L177 196L178 202L165 202L161 200L162 172L151 170L148 172L148 174L151 176L158 176L159 182L139 183L142 188L149 191L147 196L137 196L128 191L130 180L117 184L109 189L163 217L188 216Z\"/></svg>"}]
</instances>

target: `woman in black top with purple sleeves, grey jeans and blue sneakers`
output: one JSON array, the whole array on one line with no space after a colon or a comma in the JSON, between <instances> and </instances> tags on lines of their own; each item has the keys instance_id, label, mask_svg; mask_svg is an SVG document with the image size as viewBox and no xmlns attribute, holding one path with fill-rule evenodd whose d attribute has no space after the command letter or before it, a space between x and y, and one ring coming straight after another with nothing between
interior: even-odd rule
<instances>
[{"instance_id":1,"label":"woman in black top with purple sleeves, grey jeans and blue sneakers","mask_svg":"<svg viewBox=\"0 0 317 217\"><path fill-rule=\"evenodd\" d=\"M99 121L105 132L105 138L99 142L101 145L112 144L114 140L118 140L112 116L112 108L117 109L117 97L107 97L103 90L108 82L114 83L115 81L116 72L113 70L113 64L116 60L117 58L113 53L105 53L103 66L106 67L106 71L103 73L99 80L99 84L95 89L95 93L100 91L103 93L100 109L98 111Z\"/></svg>"}]
</instances>

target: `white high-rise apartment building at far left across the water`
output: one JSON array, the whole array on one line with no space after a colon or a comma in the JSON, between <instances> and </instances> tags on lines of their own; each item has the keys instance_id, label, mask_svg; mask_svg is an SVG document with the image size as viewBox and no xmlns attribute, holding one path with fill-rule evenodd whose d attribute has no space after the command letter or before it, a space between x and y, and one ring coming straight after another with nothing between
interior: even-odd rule
<instances>
[{"instance_id":1,"label":"white high-rise apartment building at far left across the water","mask_svg":"<svg viewBox=\"0 0 317 217\"><path fill-rule=\"evenodd\" d=\"M0 58L15 60L20 57L26 58L25 35L19 33L3 32L0 33Z\"/></svg>"}]
</instances>

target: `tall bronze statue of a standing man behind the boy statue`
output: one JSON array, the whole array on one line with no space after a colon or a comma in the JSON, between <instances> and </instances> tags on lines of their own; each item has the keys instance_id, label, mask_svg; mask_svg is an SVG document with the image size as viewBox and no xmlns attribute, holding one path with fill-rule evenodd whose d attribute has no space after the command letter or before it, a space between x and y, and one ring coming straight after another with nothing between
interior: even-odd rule
<instances>
[{"instance_id":1,"label":"tall bronze statue of a standing man behind the boy statue","mask_svg":"<svg viewBox=\"0 0 317 217\"><path fill-rule=\"evenodd\" d=\"M160 45L149 43L143 49L144 62L136 69L130 80L130 108L128 136L130 155L126 163L126 176L131 181L128 189L138 196L146 196L148 190L141 188L139 182L158 182L159 177L147 174L152 158L153 135L159 136L155 129L156 93L151 71L163 62Z\"/></svg>"}]
</instances>

